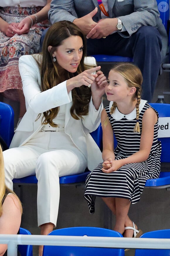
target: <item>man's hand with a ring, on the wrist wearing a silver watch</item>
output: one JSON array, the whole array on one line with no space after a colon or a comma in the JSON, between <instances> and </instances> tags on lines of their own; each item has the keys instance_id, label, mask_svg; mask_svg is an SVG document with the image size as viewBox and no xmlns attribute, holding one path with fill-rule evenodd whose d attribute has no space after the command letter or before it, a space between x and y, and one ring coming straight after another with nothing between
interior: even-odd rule
<instances>
[{"instance_id":1,"label":"man's hand with a ring, on the wrist wearing a silver watch","mask_svg":"<svg viewBox=\"0 0 170 256\"><path fill-rule=\"evenodd\" d=\"M117 31L116 25L118 24L117 18L113 19L100 19L96 26L94 26L86 38L89 39L100 39L103 36L108 36L114 31Z\"/></svg>"}]
</instances>

